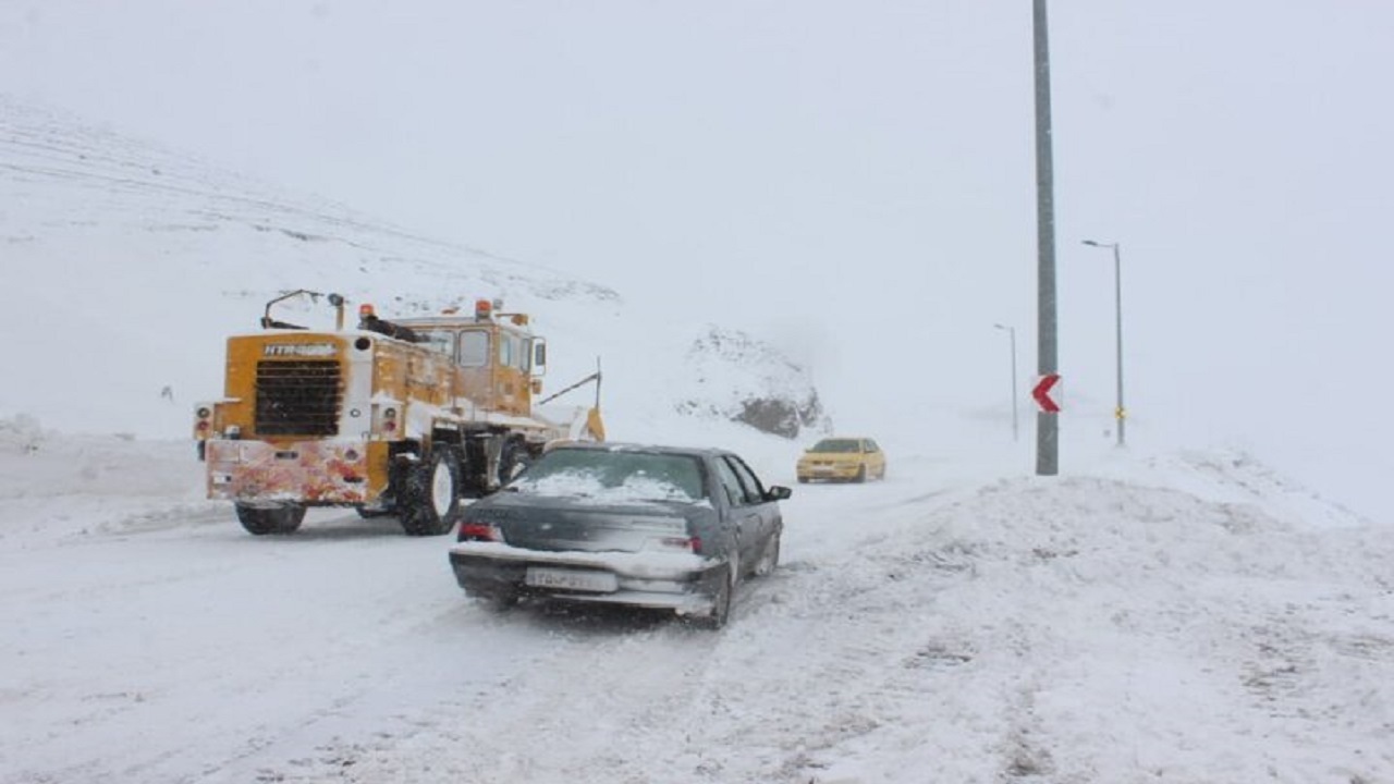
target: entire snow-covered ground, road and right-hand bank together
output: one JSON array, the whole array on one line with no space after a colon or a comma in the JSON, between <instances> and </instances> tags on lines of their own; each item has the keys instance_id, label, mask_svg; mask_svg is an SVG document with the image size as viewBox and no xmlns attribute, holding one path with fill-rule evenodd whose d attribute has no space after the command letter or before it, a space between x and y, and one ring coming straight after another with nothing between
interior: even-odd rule
<instances>
[{"instance_id":1,"label":"entire snow-covered ground, road and right-hand bank together","mask_svg":"<svg viewBox=\"0 0 1394 784\"><path fill-rule=\"evenodd\" d=\"M797 487L710 633L495 614L392 520L250 537L187 445L0 462L4 784L1394 780L1388 529L1262 466Z\"/></svg>"}]
</instances>

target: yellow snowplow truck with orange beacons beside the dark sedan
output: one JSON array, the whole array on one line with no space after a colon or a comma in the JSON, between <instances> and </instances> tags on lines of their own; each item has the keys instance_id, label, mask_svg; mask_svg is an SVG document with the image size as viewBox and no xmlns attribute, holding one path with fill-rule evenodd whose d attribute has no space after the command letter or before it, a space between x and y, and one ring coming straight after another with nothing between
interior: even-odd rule
<instances>
[{"instance_id":1,"label":"yellow snowplow truck with orange beacons beside the dark sedan","mask_svg":"<svg viewBox=\"0 0 1394 784\"><path fill-rule=\"evenodd\" d=\"M272 318L302 296L336 308L332 331ZM351 328L346 306L308 290L268 303L262 331L227 339L224 396L197 407L208 497L231 501L250 533L291 533L308 506L353 506L443 534L461 498L498 490L548 444L605 438L599 370L563 391L594 381L594 406L544 414L533 398L546 346L498 300L393 321L362 304Z\"/></svg>"}]
</instances>

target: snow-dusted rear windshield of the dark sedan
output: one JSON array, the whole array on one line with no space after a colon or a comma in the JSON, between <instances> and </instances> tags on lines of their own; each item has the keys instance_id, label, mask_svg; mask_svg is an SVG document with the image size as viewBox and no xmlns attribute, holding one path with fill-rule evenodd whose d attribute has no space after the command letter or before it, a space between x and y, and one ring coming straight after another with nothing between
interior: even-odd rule
<instances>
[{"instance_id":1,"label":"snow-dusted rear windshield of the dark sedan","mask_svg":"<svg viewBox=\"0 0 1394 784\"><path fill-rule=\"evenodd\" d=\"M691 455L553 449L513 483L519 492L622 501L700 501L701 462Z\"/></svg>"}]
</instances>

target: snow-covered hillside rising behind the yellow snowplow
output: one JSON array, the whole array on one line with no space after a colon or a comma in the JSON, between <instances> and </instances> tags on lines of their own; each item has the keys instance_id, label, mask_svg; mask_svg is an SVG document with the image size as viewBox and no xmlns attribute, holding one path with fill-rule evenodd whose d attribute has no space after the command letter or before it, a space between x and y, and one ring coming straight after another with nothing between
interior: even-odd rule
<instances>
[{"instance_id":1,"label":"snow-covered hillside rising behind the yellow snowplow","mask_svg":"<svg viewBox=\"0 0 1394 784\"><path fill-rule=\"evenodd\" d=\"M643 438L647 412L691 400L684 353L710 331L636 319L643 303L611 287L421 237L3 95L0 250L7 321L25 333L7 342L0 416L67 431L187 432L192 402L222 392L224 336L254 328L265 301L296 289L372 301L389 318L503 299L548 336L551 389L604 354L606 409L630 438ZM776 368L761 377L767 396L814 395L802 368ZM650 382L665 374L668 384Z\"/></svg>"}]
</instances>

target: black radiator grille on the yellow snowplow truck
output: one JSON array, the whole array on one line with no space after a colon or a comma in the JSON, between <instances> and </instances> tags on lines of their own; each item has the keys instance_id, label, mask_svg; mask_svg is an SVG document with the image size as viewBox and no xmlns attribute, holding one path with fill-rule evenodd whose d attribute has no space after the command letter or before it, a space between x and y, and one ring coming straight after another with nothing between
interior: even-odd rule
<instances>
[{"instance_id":1,"label":"black radiator grille on the yellow snowplow truck","mask_svg":"<svg viewBox=\"0 0 1394 784\"><path fill-rule=\"evenodd\" d=\"M337 435L342 402L335 360L256 363L261 435Z\"/></svg>"}]
</instances>

